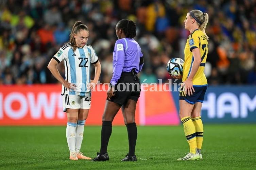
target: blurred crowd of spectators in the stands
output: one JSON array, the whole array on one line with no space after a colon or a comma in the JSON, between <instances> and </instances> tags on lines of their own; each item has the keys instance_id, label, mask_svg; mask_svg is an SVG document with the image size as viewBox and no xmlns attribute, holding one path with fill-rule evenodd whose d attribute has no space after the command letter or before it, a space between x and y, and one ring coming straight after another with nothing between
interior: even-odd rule
<instances>
[{"instance_id":1,"label":"blurred crowd of spectators in the stands","mask_svg":"<svg viewBox=\"0 0 256 170\"><path fill-rule=\"evenodd\" d=\"M108 83L115 25L124 18L137 25L140 80L167 82L168 60L184 58L190 33L183 21L192 9L209 14L208 84L256 84L256 0L1 0L0 84L57 83L47 65L77 20L89 27L87 44L101 62L100 82ZM64 65L58 69L65 77Z\"/></svg>"}]
</instances>

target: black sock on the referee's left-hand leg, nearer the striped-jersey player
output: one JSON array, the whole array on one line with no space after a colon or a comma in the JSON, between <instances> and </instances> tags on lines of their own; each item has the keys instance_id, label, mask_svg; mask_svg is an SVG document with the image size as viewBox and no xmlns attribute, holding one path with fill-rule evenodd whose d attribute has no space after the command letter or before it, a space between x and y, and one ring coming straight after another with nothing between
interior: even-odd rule
<instances>
[{"instance_id":1,"label":"black sock on the referee's left-hand leg, nearer the striped-jersey player","mask_svg":"<svg viewBox=\"0 0 256 170\"><path fill-rule=\"evenodd\" d=\"M102 121L101 145L100 145L100 154L101 155L103 155L107 152L107 144L108 144L111 132L112 132L112 122Z\"/></svg>"}]
</instances>

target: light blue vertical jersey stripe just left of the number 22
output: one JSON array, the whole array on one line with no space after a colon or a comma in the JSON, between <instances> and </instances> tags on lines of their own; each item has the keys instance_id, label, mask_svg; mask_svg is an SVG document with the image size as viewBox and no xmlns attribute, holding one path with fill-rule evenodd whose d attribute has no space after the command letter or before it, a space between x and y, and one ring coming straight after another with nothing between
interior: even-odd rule
<instances>
[{"instance_id":1,"label":"light blue vertical jersey stripe just left of the number 22","mask_svg":"<svg viewBox=\"0 0 256 170\"><path fill-rule=\"evenodd\" d=\"M75 69L75 58L72 56L74 54L74 51L72 48L68 50L68 61L70 66L70 78L71 82L76 84L76 69ZM75 91L69 91L69 94L75 94Z\"/></svg>"}]
</instances>

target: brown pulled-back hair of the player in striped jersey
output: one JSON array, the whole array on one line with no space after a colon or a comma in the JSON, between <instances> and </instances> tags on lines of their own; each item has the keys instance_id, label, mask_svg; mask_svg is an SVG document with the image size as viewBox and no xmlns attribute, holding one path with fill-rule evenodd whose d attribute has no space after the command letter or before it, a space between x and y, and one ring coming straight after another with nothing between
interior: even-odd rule
<instances>
[{"instance_id":1,"label":"brown pulled-back hair of the player in striped jersey","mask_svg":"<svg viewBox=\"0 0 256 170\"><path fill-rule=\"evenodd\" d=\"M83 24L81 21L76 21L69 35L69 42L71 43L73 51L75 51L76 49L74 34L77 34L81 29L89 31L88 27L85 24Z\"/></svg>"}]
</instances>

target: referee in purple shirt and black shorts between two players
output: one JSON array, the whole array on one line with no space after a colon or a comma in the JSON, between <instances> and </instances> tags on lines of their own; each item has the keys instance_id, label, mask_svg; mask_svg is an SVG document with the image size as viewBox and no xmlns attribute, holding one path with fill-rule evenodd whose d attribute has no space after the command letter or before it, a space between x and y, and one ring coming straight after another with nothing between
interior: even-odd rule
<instances>
[{"instance_id":1,"label":"referee in purple shirt and black shorts between two players","mask_svg":"<svg viewBox=\"0 0 256 170\"><path fill-rule=\"evenodd\" d=\"M135 109L140 96L140 80L137 73L142 69L143 55L139 44L133 39L136 36L136 25L133 21L120 20L116 25L116 35L118 40L113 52L113 77L102 116L101 148L92 161L109 160L107 145L112 132L112 121L120 108L129 139L129 152L121 161L137 161Z\"/></svg>"}]
</instances>

